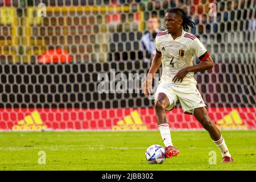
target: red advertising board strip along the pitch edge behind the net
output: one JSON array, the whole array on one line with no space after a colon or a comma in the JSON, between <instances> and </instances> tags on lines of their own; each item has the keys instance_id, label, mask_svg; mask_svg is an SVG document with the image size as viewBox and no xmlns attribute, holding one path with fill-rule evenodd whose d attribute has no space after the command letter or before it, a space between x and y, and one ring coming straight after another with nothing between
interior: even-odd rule
<instances>
[{"instance_id":1,"label":"red advertising board strip along the pitch edge behind the net","mask_svg":"<svg viewBox=\"0 0 256 182\"><path fill-rule=\"evenodd\" d=\"M35 113L32 115L34 111L38 112L37 116L35 116ZM134 119L137 118L133 118L132 111L138 112L137 114L142 123L135 123ZM234 122L234 125L229 125L225 121L226 115L233 117L233 114L230 114L232 112L235 112L235 115L239 115L242 123ZM209 107L208 113L214 124L220 129L256 129L256 107ZM203 129L196 118L193 115L184 114L181 107L166 111L166 114L170 121L171 129ZM148 130L158 129L154 108L0 108L0 131L14 130L13 127L15 125L23 127L25 125L24 122L26 123L25 117L34 121L34 125L26 126L32 130L40 129L40 127L44 126L47 126L47 129L50 130L112 130L113 127L118 127L118 130L126 130L130 125L121 122L125 117L133 119L132 128L141 127L141 129L144 129L146 126ZM222 121L220 122L220 120Z\"/></svg>"}]
</instances>

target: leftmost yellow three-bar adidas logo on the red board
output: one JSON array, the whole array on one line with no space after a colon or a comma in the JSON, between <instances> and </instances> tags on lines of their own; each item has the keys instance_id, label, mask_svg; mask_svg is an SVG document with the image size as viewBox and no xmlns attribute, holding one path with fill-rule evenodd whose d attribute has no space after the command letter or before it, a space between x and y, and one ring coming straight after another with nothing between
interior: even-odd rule
<instances>
[{"instance_id":1,"label":"leftmost yellow three-bar adidas logo on the red board","mask_svg":"<svg viewBox=\"0 0 256 182\"><path fill-rule=\"evenodd\" d=\"M12 130L14 131L35 131L46 129L47 126L43 125L42 118L38 111L33 111L31 115L27 115L24 119L18 121L17 125L14 125Z\"/></svg>"}]
</instances>

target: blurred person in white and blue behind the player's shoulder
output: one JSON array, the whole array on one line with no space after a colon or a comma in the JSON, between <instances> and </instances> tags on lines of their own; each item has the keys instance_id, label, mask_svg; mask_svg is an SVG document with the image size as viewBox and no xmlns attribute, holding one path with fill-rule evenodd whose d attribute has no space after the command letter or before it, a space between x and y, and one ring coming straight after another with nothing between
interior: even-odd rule
<instances>
[{"instance_id":1,"label":"blurred person in white and blue behind the player's shoulder","mask_svg":"<svg viewBox=\"0 0 256 182\"><path fill-rule=\"evenodd\" d=\"M143 52L143 61L150 62L155 55L155 38L159 32L160 20L152 16L147 20L148 32L141 38L141 51Z\"/></svg>"}]
</instances>

